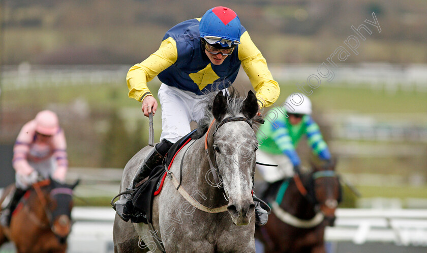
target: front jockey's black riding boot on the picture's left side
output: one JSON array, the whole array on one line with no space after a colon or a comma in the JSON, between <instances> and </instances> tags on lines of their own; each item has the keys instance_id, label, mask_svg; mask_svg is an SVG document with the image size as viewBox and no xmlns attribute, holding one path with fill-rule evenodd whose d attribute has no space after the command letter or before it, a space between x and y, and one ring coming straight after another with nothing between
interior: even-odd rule
<instances>
[{"instance_id":1,"label":"front jockey's black riding boot on the picture's left side","mask_svg":"<svg viewBox=\"0 0 427 253\"><path fill-rule=\"evenodd\" d=\"M163 139L161 143L157 144L156 147L154 147L154 149L152 149L150 153L147 154L144 162L138 168L138 171L136 172L128 189L136 190L135 185L148 177L156 166L162 164L163 158L172 144L173 143L169 142L168 140ZM131 214L133 213L132 198L133 194L123 194L121 195L121 198L113 205L117 215L124 221L128 221Z\"/></svg>"}]
</instances>

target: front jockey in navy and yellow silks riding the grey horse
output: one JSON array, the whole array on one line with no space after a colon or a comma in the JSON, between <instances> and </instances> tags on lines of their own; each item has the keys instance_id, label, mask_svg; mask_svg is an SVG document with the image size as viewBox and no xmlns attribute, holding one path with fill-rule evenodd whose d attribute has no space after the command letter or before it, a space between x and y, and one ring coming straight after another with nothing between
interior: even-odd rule
<instances>
[{"instance_id":1,"label":"front jockey in navy and yellow silks riding the grey horse","mask_svg":"<svg viewBox=\"0 0 427 253\"><path fill-rule=\"evenodd\" d=\"M142 63L131 67L127 75L129 97L142 101L148 117L156 113L158 103L147 88L147 82L158 76L162 85L158 92L162 106L161 142L146 156L130 188L160 165L166 152L191 130L190 122L203 118L199 103L216 89L226 90L236 79L240 65L248 75L259 109L273 104L280 94L261 52L252 42L237 14L226 7L208 10L202 18L190 19L173 26L159 50ZM115 203L117 214L129 220L132 195L122 195ZM268 216L262 212L265 223ZM260 222L258 222L260 224Z\"/></svg>"}]
</instances>

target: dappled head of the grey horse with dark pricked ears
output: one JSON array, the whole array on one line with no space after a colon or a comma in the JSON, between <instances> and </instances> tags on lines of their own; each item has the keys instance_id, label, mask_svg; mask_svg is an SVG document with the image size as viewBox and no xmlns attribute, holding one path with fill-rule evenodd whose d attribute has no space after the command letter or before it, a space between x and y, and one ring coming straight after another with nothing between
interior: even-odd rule
<instances>
[{"instance_id":1,"label":"dappled head of the grey horse with dark pricked ears","mask_svg":"<svg viewBox=\"0 0 427 253\"><path fill-rule=\"evenodd\" d=\"M252 187L258 141L248 123L252 122L257 112L257 98L252 91L246 99L237 100L219 92L211 107L217 126L229 117L244 118L222 124L214 134L213 144L218 174L229 199L227 209L238 226L249 224L254 216Z\"/></svg>"}]
</instances>

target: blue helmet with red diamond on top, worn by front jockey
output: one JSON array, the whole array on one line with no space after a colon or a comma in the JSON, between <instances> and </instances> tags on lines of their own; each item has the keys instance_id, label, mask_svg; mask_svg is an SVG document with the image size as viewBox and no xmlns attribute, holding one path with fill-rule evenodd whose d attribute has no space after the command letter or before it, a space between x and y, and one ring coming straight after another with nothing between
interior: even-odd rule
<instances>
[{"instance_id":1,"label":"blue helmet with red diamond on top, worn by front jockey","mask_svg":"<svg viewBox=\"0 0 427 253\"><path fill-rule=\"evenodd\" d=\"M216 47L230 48L240 44L240 19L230 8L217 6L200 20L200 37Z\"/></svg>"}]
</instances>

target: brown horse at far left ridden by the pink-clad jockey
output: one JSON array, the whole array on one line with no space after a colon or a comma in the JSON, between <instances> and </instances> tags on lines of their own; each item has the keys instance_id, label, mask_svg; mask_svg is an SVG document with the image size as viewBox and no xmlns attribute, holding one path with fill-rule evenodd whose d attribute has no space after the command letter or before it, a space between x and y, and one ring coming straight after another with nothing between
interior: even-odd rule
<instances>
[{"instance_id":1,"label":"brown horse at far left ridden by the pink-clad jockey","mask_svg":"<svg viewBox=\"0 0 427 253\"><path fill-rule=\"evenodd\" d=\"M18 253L63 253L71 232L73 185L51 179L27 190L13 212L10 228L0 227L0 246L11 241ZM9 186L0 202L14 186Z\"/></svg>"}]
</instances>

